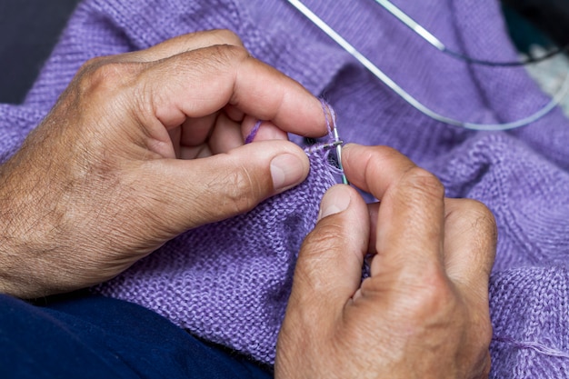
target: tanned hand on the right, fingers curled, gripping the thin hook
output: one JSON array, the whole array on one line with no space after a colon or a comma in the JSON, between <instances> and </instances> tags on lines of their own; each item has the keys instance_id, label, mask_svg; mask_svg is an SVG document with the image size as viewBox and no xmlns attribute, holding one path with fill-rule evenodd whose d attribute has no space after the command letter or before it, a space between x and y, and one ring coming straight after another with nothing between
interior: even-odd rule
<instances>
[{"instance_id":1,"label":"tanned hand on the right, fingers curled, gripping the thin hook","mask_svg":"<svg viewBox=\"0 0 569 379\"><path fill-rule=\"evenodd\" d=\"M493 215L444 198L433 175L389 148L348 145L343 163L381 204L366 207L347 185L324 195L296 265L275 377L487 376ZM368 253L371 276L360 283Z\"/></svg>"}]
</instances>

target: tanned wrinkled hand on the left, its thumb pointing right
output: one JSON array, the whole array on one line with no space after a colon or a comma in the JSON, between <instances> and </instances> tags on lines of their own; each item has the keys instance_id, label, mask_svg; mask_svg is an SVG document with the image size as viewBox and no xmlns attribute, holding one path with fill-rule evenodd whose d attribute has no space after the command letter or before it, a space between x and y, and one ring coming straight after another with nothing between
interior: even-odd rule
<instances>
[{"instance_id":1,"label":"tanned wrinkled hand on the left, its thumb pointing right","mask_svg":"<svg viewBox=\"0 0 569 379\"><path fill-rule=\"evenodd\" d=\"M256 119L259 142L244 145ZM319 101L230 32L86 63L0 167L0 292L103 282L297 185L308 159L286 132L324 135Z\"/></svg>"}]
</instances>

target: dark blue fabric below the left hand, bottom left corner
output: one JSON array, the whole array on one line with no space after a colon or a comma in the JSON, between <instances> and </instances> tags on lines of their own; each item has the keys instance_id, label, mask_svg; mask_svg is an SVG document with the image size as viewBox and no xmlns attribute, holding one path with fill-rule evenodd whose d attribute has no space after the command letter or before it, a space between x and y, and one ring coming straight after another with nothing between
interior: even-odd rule
<instances>
[{"instance_id":1,"label":"dark blue fabric below the left hand, bottom left corner","mask_svg":"<svg viewBox=\"0 0 569 379\"><path fill-rule=\"evenodd\" d=\"M269 378L145 308L92 295L0 294L0 378Z\"/></svg>"}]
</instances>

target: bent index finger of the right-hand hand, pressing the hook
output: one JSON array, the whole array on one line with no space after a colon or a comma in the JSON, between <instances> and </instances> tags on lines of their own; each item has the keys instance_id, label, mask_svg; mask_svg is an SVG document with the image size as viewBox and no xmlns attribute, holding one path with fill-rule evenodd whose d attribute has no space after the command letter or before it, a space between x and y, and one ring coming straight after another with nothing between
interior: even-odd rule
<instances>
[{"instance_id":1,"label":"bent index finger of the right-hand hand, pressing the hook","mask_svg":"<svg viewBox=\"0 0 569 379\"><path fill-rule=\"evenodd\" d=\"M372 275L444 269L444 187L434 175L384 146L348 145L343 164L350 182L381 201Z\"/></svg>"}]
</instances>

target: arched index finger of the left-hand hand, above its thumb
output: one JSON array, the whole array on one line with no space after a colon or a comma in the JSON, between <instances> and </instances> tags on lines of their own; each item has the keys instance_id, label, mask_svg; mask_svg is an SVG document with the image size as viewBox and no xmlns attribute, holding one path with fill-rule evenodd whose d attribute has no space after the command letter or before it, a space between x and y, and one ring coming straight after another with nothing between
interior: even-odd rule
<instances>
[{"instance_id":1,"label":"arched index finger of the left-hand hand, above its thumb","mask_svg":"<svg viewBox=\"0 0 569 379\"><path fill-rule=\"evenodd\" d=\"M150 91L145 96L151 102L149 109L166 127L231 105L245 115L270 120L285 132L326 133L318 99L243 47L214 45L175 55L149 66L140 79Z\"/></svg>"}]
</instances>

